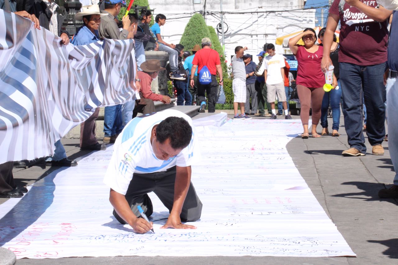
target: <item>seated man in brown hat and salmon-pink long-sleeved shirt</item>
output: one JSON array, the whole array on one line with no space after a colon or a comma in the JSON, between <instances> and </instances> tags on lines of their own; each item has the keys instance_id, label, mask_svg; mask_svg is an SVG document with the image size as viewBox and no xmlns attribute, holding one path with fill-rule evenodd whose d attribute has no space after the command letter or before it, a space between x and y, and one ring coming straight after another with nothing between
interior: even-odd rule
<instances>
[{"instance_id":1,"label":"seated man in brown hat and salmon-pink long-sleeved shirt","mask_svg":"<svg viewBox=\"0 0 398 265\"><path fill-rule=\"evenodd\" d=\"M158 76L159 71L165 70L165 68L160 67L160 61L156 59L146 60L141 64L141 69L142 71L138 72L138 79L141 83L141 99L135 101L133 117L136 117L137 113L149 114L155 112L153 101L162 101L164 104L169 104L171 101L170 97L166 95L152 93L152 80Z\"/></svg>"}]
</instances>

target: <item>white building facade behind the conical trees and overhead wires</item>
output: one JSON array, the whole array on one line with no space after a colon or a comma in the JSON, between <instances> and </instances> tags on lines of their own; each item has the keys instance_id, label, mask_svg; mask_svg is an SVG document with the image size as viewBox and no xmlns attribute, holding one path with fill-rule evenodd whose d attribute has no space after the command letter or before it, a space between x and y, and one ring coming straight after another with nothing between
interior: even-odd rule
<instances>
[{"instance_id":1,"label":"white building facade behind the conical trees and overhead wires","mask_svg":"<svg viewBox=\"0 0 398 265\"><path fill-rule=\"evenodd\" d=\"M230 62L236 46L248 47L257 62L256 55L265 43L275 44L277 37L315 27L315 9L303 9L303 0L221 0L224 21L225 53ZM168 43L179 43L185 26L195 12L205 13L207 25L221 21L220 0L150 0L156 14L166 16L161 27L162 37ZM221 32L221 30L220 30ZM218 32L217 32L218 33ZM222 34L218 33L222 45ZM277 53L291 53L289 47L275 45Z\"/></svg>"}]
</instances>

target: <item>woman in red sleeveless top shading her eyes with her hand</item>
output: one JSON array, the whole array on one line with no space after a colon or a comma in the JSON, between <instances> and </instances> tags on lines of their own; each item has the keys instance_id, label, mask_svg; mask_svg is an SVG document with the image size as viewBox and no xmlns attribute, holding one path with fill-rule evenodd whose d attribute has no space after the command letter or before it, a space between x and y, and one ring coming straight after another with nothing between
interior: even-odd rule
<instances>
[{"instance_id":1,"label":"woman in red sleeveless top shading her eyes with her hand","mask_svg":"<svg viewBox=\"0 0 398 265\"><path fill-rule=\"evenodd\" d=\"M304 42L304 46L297 44L300 39ZM316 126L321 117L325 77L321 70L323 47L316 45L315 42L316 33L312 28L304 29L301 34L289 40L289 48L296 55L298 62L296 84L301 105L300 119L304 128L304 132L301 134L303 139L309 137L310 107L312 108L312 137L321 137L316 133Z\"/></svg>"}]
</instances>

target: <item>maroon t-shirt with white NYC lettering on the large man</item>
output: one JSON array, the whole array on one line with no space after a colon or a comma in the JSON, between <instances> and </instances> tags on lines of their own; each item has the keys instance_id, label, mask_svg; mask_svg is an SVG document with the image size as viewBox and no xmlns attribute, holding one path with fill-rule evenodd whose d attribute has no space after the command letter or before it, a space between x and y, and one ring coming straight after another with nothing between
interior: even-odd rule
<instances>
[{"instance_id":1,"label":"maroon t-shirt with white NYC lettering on the large man","mask_svg":"<svg viewBox=\"0 0 398 265\"><path fill-rule=\"evenodd\" d=\"M376 1L360 1L368 6L377 6ZM339 3L340 0L334 0L329 10L330 14L340 16L339 62L361 66L386 62L388 21L374 21L347 3L343 14L339 14Z\"/></svg>"}]
</instances>

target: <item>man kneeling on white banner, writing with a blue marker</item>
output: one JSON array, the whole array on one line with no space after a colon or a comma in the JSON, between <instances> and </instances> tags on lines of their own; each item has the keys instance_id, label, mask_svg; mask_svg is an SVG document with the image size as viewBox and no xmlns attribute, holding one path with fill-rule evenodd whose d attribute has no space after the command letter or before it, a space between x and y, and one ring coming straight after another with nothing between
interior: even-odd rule
<instances>
[{"instance_id":1,"label":"man kneeling on white banner, writing with a blue marker","mask_svg":"<svg viewBox=\"0 0 398 265\"><path fill-rule=\"evenodd\" d=\"M161 228L195 229L202 212L191 183L191 165L200 160L199 143L189 116L166 110L136 117L117 138L104 183L111 188L113 215L135 232L152 228L140 217L153 212L148 193L154 192L170 212Z\"/></svg>"}]
</instances>

